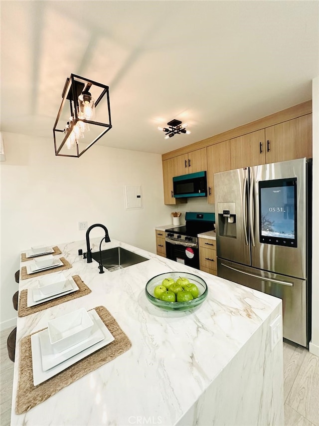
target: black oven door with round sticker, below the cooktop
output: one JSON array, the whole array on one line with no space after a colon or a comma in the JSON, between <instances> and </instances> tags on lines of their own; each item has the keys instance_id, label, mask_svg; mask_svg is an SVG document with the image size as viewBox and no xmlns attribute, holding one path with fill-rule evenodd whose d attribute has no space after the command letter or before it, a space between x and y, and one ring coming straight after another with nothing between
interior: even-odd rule
<instances>
[{"instance_id":1,"label":"black oven door with round sticker, below the cooktop","mask_svg":"<svg viewBox=\"0 0 319 426\"><path fill-rule=\"evenodd\" d=\"M197 245L178 244L175 241L169 241L167 238L165 244L167 259L199 269L199 250Z\"/></svg>"}]
</instances>

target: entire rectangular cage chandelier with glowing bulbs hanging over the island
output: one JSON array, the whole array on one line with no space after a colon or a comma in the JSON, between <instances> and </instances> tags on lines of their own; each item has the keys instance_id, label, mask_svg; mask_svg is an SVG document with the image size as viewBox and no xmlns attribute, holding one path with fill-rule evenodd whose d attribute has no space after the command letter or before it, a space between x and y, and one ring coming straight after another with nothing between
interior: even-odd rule
<instances>
[{"instance_id":1,"label":"entire rectangular cage chandelier with glowing bulbs hanging over the island","mask_svg":"<svg viewBox=\"0 0 319 426\"><path fill-rule=\"evenodd\" d=\"M109 86L71 74L53 127L55 155L80 157L110 129Z\"/></svg>"}]
</instances>

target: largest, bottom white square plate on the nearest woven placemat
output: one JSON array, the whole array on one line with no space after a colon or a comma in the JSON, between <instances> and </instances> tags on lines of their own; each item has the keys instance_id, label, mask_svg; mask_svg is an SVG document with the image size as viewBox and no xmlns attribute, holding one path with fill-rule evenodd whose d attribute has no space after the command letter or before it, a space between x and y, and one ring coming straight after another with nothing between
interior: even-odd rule
<instances>
[{"instance_id":1,"label":"largest, bottom white square plate on the nearest woven placemat","mask_svg":"<svg viewBox=\"0 0 319 426\"><path fill-rule=\"evenodd\" d=\"M42 368L42 355L41 355L41 345L40 345L40 338L39 338L39 335L41 332L35 333L31 336L31 353L32 353L32 369L33 369L33 385L34 386L37 386L40 383L45 382L46 380L50 379L51 377L55 376L61 371L67 369L68 367L71 367L71 365L75 364L76 362L82 360L88 355L93 354L98 349L101 349L104 346L108 345L109 343L113 342L114 337L112 336L112 334L110 333L110 331L108 330L104 322L101 320L97 312L94 309L92 309L91 311L89 311L89 314L92 315L91 318L94 321L94 328L96 326L99 327L99 329L102 331L104 335L104 338L100 342L96 343L95 345L92 345L89 348L84 349L82 352L79 352L78 354L59 363L58 365L50 368L47 371L43 371L43 368Z\"/></svg>"}]
</instances>

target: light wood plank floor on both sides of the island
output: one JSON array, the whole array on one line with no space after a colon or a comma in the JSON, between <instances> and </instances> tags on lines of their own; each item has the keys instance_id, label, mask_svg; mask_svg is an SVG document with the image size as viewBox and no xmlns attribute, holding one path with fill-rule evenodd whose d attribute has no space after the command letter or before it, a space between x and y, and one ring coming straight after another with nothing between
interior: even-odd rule
<instances>
[{"instance_id":1,"label":"light wood plank floor on both sides of the island","mask_svg":"<svg viewBox=\"0 0 319 426\"><path fill-rule=\"evenodd\" d=\"M14 363L7 356L6 339L12 329L0 332L1 426L10 425ZM287 342L284 342L284 400L284 426L319 426L319 357Z\"/></svg>"}]
</instances>

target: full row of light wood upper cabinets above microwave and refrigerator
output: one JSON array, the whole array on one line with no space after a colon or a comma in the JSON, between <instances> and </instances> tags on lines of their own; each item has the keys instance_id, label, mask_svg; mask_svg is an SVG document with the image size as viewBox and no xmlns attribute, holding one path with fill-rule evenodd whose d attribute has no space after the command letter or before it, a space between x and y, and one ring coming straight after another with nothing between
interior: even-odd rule
<instances>
[{"instance_id":1,"label":"full row of light wood upper cabinets above microwave and refrigerator","mask_svg":"<svg viewBox=\"0 0 319 426\"><path fill-rule=\"evenodd\" d=\"M174 176L207 171L208 203L214 204L214 173L297 158L312 158L312 101L162 155L165 204L174 199Z\"/></svg>"}]
</instances>

